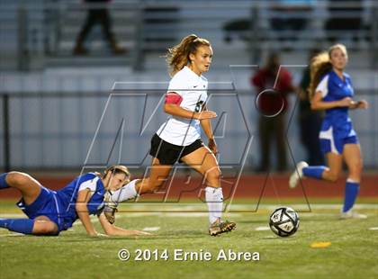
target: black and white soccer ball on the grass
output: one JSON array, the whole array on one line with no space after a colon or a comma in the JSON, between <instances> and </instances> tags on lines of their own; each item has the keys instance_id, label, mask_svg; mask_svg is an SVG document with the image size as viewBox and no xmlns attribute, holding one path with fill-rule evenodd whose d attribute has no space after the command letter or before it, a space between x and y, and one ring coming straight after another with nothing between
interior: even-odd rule
<instances>
[{"instance_id":1,"label":"black and white soccer ball on the grass","mask_svg":"<svg viewBox=\"0 0 378 279\"><path fill-rule=\"evenodd\" d=\"M299 223L298 213L290 207L277 208L269 219L270 229L280 237L293 235L299 228Z\"/></svg>"}]
</instances>

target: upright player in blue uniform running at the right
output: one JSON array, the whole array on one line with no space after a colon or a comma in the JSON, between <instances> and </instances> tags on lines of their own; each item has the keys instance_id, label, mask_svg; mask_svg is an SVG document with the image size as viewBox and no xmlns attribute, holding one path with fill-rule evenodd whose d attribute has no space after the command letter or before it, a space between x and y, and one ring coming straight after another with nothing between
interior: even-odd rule
<instances>
[{"instance_id":1,"label":"upright player in blue uniform running at the right","mask_svg":"<svg viewBox=\"0 0 378 279\"><path fill-rule=\"evenodd\" d=\"M294 188L303 177L312 177L336 182L347 164L348 177L344 206L340 217L366 218L353 211L362 174L362 155L356 131L348 116L349 109L367 109L365 100L355 102L350 76L344 72L347 66L347 48L342 44L332 46L328 52L320 53L311 63L311 109L325 110L326 115L320 130L320 148L328 159L328 166L308 166L300 162L289 185Z\"/></svg>"}]
</instances>

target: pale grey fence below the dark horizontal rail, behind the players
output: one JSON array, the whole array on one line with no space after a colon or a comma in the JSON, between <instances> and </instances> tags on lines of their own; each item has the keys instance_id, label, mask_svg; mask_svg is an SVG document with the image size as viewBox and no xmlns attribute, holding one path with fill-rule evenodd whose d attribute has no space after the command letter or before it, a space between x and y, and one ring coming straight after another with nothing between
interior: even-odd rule
<instances>
[{"instance_id":1,"label":"pale grey fence below the dark horizontal rail, behind the players","mask_svg":"<svg viewBox=\"0 0 378 279\"><path fill-rule=\"evenodd\" d=\"M245 151L249 130L255 139L247 151L246 165L256 166L261 154L257 140L258 115L254 110L256 94L251 91L236 92L241 103L238 107L232 94L216 93L217 96L211 97L210 109L220 116L227 114L224 118L217 118L216 121L220 121L218 124L215 121L213 123L213 127L220 127L215 132L220 149L220 163L238 163ZM148 98L145 97L146 94ZM114 94L110 99L109 94L100 92L0 94L0 107L3 110L3 119L0 121L0 146L3 147L0 148L0 167L6 170L73 169L84 166L85 157L89 158L89 163L105 164L109 150L112 149L113 142L116 142L122 120L125 122L122 163L128 166L147 166L149 140L166 120L166 114L158 109L163 94L164 90L137 90L128 94ZM359 98L369 101L370 109L351 112L351 116L362 145L365 166L376 169L378 124L374 120L378 119L378 94L374 90L364 90L358 94ZM299 112L294 95L290 101L291 111L287 115L290 126L288 143L293 157L288 159L299 161L305 157L305 152L299 141ZM238 112L240 109L243 112ZM293 117L290 118L291 115ZM243 122L244 117L247 126ZM100 120L103 120L101 125ZM221 127L226 127L226 130L221 130ZM96 130L98 133L94 137ZM88 154L93 139L94 152Z\"/></svg>"}]
</instances>

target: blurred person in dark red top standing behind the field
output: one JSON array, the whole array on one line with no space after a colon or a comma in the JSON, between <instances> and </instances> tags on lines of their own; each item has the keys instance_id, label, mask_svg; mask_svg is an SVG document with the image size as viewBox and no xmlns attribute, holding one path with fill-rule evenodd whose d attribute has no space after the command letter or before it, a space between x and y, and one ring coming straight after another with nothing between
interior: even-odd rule
<instances>
[{"instance_id":1,"label":"blurred person in dark red top standing behind the field","mask_svg":"<svg viewBox=\"0 0 378 279\"><path fill-rule=\"evenodd\" d=\"M257 105L260 111L258 130L261 147L261 162L258 171L267 171L270 169L272 140L275 140L276 145L275 154L277 154L278 158L277 170L284 171L287 167L285 111L288 103L286 95L294 90L292 75L284 67L280 68L279 55L272 53L267 59L266 67L261 68L252 76L251 83L256 86L257 94L259 94ZM275 89L276 94L274 94L273 91L267 94L260 94L266 89ZM277 114L276 112L279 112L281 107L283 108L282 111Z\"/></svg>"}]
</instances>

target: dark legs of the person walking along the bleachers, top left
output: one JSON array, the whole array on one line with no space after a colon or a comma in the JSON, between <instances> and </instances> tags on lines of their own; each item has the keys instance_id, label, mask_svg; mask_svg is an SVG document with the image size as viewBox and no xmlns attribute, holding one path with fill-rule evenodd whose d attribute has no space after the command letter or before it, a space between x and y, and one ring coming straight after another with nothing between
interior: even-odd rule
<instances>
[{"instance_id":1,"label":"dark legs of the person walking along the bleachers, top left","mask_svg":"<svg viewBox=\"0 0 378 279\"><path fill-rule=\"evenodd\" d=\"M88 13L86 14L84 26L77 36L74 54L80 55L88 52L88 50L84 47L85 38L96 23L101 24L104 37L108 41L112 49L112 53L124 53L126 49L118 46L114 39L114 34L112 33L112 20L108 8L106 7L106 4L108 4L110 0L84 0L84 2L90 6L88 7ZM98 6L94 6L94 4L98 4Z\"/></svg>"}]
</instances>

